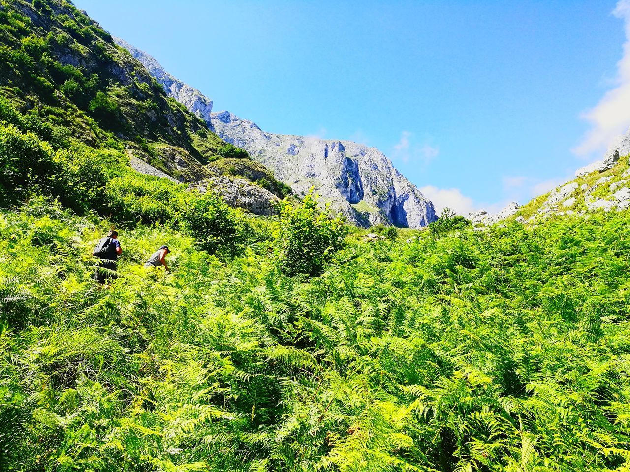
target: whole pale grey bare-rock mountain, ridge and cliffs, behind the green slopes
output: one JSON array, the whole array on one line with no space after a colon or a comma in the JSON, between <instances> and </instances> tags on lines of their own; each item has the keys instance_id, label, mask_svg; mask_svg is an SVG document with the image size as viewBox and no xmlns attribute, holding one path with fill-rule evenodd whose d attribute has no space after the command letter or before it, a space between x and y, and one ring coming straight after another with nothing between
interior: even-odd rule
<instances>
[{"instance_id":1,"label":"whole pale grey bare-rock mountain, ridge and cliffs, behind the green slopes","mask_svg":"<svg viewBox=\"0 0 630 472\"><path fill-rule=\"evenodd\" d=\"M151 55L121 40L117 42L156 77L168 96L203 116L219 137L249 152L252 159L272 169L275 177L296 193L305 194L314 188L332 210L341 211L350 222L364 227L388 223L419 228L437 219L431 201L379 150L345 140L268 133L229 111L212 113L208 118L207 113L203 115L212 105L208 98L186 88ZM181 92L184 90L186 93ZM207 106L199 108L199 104Z\"/></svg>"}]
</instances>

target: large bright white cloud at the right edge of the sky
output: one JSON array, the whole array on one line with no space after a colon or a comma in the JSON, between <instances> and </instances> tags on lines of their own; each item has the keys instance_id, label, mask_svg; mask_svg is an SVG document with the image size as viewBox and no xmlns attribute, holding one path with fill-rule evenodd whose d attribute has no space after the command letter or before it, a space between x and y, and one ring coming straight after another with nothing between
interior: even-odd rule
<instances>
[{"instance_id":1,"label":"large bright white cloud at the right edge of the sky","mask_svg":"<svg viewBox=\"0 0 630 472\"><path fill-rule=\"evenodd\" d=\"M582 114L591 128L573 149L578 155L604 151L630 126L630 0L620 0L612 13L624 20L626 31L623 57L617 63L616 87Z\"/></svg>"}]
</instances>

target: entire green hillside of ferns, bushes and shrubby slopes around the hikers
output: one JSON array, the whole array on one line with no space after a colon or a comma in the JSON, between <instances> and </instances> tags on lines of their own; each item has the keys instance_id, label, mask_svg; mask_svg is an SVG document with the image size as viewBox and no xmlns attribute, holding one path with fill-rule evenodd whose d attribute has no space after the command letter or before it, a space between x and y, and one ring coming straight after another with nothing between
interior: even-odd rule
<instances>
[{"instance_id":1,"label":"entire green hillside of ferns, bushes and shrubby slopes around the hikers","mask_svg":"<svg viewBox=\"0 0 630 472\"><path fill-rule=\"evenodd\" d=\"M630 470L622 200L382 237L310 194L254 217L129 167L289 193L98 25L0 5L0 471ZM612 202L626 169L578 188Z\"/></svg>"}]
</instances>

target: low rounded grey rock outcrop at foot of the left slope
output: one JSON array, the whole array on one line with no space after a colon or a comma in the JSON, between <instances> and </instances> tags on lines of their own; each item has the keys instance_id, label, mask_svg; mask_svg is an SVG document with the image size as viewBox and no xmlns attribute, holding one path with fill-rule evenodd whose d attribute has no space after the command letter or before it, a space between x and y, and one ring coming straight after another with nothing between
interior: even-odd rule
<instances>
[{"instance_id":1,"label":"low rounded grey rock outcrop at foot of the left slope","mask_svg":"<svg viewBox=\"0 0 630 472\"><path fill-rule=\"evenodd\" d=\"M221 195L228 205L243 208L255 215L278 214L280 199L270 191L243 179L231 179L227 176L212 177L190 184L188 190L192 189L201 193L210 189Z\"/></svg>"}]
</instances>

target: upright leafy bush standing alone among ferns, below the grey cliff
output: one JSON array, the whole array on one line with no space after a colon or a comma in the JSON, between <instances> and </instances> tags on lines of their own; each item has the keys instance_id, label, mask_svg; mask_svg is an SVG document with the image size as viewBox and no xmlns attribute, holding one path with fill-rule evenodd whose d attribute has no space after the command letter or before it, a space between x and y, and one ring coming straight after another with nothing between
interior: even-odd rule
<instances>
[{"instance_id":1,"label":"upright leafy bush standing alone among ferns, below the grey cliff","mask_svg":"<svg viewBox=\"0 0 630 472\"><path fill-rule=\"evenodd\" d=\"M285 274L318 276L329 257L343 247L348 229L342 218L320 213L317 207L312 191L302 206L282 203L274 236L278 265Z\"/></svg>"}]
</instances>

